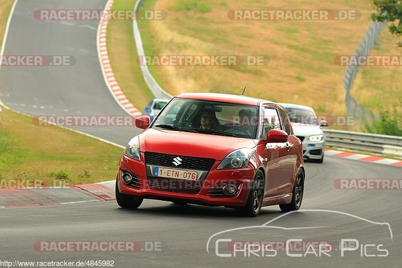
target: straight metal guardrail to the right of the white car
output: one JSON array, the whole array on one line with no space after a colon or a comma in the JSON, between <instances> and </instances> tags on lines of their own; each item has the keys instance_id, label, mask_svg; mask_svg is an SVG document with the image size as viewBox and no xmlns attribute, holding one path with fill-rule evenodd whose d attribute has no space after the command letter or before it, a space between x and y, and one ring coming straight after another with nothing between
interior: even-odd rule
<instances>
[{"instance_id":1,"label":"straight metal guardrail to the right of the white car","mask_svg":"<svg viewBox=\"0 0 402 268\"><path fill-rule=\"evenodd\" d=\"M402 137L324 129L325 145L402 157Z\"/></svg>"}]
</instances>

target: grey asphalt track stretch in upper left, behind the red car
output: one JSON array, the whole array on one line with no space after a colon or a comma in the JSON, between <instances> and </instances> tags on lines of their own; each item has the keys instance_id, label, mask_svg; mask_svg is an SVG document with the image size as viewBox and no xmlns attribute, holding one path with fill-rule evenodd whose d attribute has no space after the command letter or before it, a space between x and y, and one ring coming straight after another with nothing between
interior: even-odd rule
<instances>
[{"instance_id":1,"label":"grey asphalt track stretch in upper left, behind the red car","mask_svg":"<svg viewBox=\"0 0 402 268\"><path fill-rule=\"evenodd\" d=\"M102 10L105 0L21 0L10 24L4 55L73 56L72 66L3 66L0 99L8 107L37 115L128 115L108 90L100 68L99 21L39 21L40 9ZM72 127L126 145L141 131L130 126Z\"/></svg>"}]
</instances>

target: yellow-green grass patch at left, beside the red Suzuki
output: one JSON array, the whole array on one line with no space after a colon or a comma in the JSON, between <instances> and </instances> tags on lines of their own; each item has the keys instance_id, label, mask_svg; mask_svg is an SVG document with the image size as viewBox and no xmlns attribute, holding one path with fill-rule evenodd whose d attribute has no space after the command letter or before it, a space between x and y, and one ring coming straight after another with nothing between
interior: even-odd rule
<instances>
[{"instance_id":1,"label":"yellow-green grass patch at left, beside the red Suzuki","mask_svg":"<svg viewBox=\"0 0 402 268\"><path fill-rule=\"evenodd\" d=\"M43 181L43 186L51 186L61 178L68 179L68 184L116 178L122 153L118 147L68 129L36 126L32 118L7 109L2 112L2 122L2 179L37 179Z\"/></svg>"}]
</instances>

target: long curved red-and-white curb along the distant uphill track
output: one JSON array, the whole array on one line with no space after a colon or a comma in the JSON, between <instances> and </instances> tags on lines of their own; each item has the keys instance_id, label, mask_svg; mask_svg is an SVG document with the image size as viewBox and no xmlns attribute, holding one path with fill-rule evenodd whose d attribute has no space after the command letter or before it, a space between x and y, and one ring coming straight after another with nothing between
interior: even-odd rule
<instances>
[{"instance_id":1,"label":"long curved red-and-white curb along the distant uphill track","mask_svg":"<svg viewBox=\"0 0 402 268\"><path fill-rule=\"evenodd\" d=\"M106 4L105 11L110 11L114 0L109 0ZM115 75L113 74L112 66L110 64L108 47L107 47L107 29L108 29L109 19L101 20L97 29L97 51L100 61L100 66L102 67L102 72L105 78L105 82L108 85L110 92L116 99L117 103L126 110L133 117L140 116L142 113L134 107L134 105L127 99L126 95L123 93L118 82L116 81Z\"/></svg>"}]
</instances>

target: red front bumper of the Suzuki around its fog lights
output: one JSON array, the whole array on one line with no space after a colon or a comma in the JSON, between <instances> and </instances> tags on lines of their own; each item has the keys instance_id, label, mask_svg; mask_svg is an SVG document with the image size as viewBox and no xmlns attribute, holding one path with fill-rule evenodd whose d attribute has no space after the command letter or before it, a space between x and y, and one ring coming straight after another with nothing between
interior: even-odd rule
<instances>
[{"instance_id":1,"label":"red front bumper of the Suzuki around its fog lights","mask_svg":"<svg viewBox=\"0 0 402 268\"><path fill-rule=\"evenodd\" d=\"M141 153L141 160L144 161L144 153ZM124 155L119 165L118 187L122 194L135 195L145 199L156 199L164 201L185 201L190 204L202 204L210 206L242 207L246 204L256 170L254 168L217 170L220 161L216 161L211 171L203 181L199 181L200 190L197 193L172 192L166 189L154 190L148 184L146 168L140 161L127 158ZM149 167L148 167L149 168ZM122 172L129 172L136 177L136 187L128 186L122 181ZM164 179L174 180L174 179ZM149 178L151 181L151 178ZM217 186L235 184L238 192L231 197L213 195ZM218 188L219 188L218 187Z\"/></svg>"}]
</instances>

